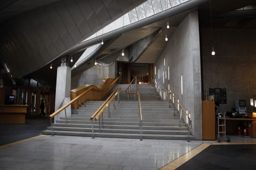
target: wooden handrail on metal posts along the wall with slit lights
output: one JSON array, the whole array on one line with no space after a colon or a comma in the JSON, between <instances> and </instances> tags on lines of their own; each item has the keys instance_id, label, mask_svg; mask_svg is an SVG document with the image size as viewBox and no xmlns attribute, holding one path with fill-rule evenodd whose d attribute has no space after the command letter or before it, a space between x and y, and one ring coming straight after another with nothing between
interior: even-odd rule
<instances>
[{"instance_id":1,"label":"wooden handrail on metal posts along the wall with slit lights","mask_svg":"<svg viewBox=\"0 0 256 170\"><path fill-rule=\"evenodd\" d=\"M162 91L164 92L164 89L166 89L166 94L167 92L170 94L170 97L169 97L169 108L171 107L171 99L172 99L172 103L175 104L175 102L177 102L177 108L178 108L178 111L180 110L180 120L182 119L182 113L185 114L186 116L186 119L187 119L187 124L188 124L188 142L189 141L189 135L190 135L190 132L191 132L191 129L192 129L192 119L190 117L190 113L188 113L188 110L185 111L185 109L183 108L182 105L180 105L180 102L179 102L179 99L176 99L176 97L174 96L174 93L172 93L171 90L169 90L169 88L167 87L164 87L164 88L161 88L159 89L159 87L157 87L157 84L154 83L154 87L157 89L157 92L160 93L160 96L162 96ZM167 95L166 95L167 96ZM163 101L165 99L165 94L163 93ZM162 97L161 97L161 100L162 100ZM179 109L180 108L180 109ZM183 112L182 112L183 111Z\"/></svg>"}]
</instances>

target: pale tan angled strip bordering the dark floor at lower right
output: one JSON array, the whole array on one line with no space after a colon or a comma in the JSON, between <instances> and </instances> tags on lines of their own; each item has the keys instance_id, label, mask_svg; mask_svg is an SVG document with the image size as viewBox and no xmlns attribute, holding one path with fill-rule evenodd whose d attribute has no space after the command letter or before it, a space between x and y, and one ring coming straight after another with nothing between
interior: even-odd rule
<instances>
[{"instance_id":1,"label":"pale tan angled strip bordering the dark floor at lower right","mask_svg":"<svg viewBox=\"0 0 256 170\"><path fill-rule=\"evenodd\" d=\"M175 170L177 167L180 167L182 164L186 163L186 161L189 161L189 159L192 159L194 156L196 156L198 153L205 150L210 145L217 145L217 144L256 144L256 142L203 143L203 144L199 145L198 147L196 147L195 149L184 154L183 156L180 156L179 158L175 159L174 161L172 161L169 164L165 165L164 167L160 168L159 170Z\"/></svg>"}]
</instances>

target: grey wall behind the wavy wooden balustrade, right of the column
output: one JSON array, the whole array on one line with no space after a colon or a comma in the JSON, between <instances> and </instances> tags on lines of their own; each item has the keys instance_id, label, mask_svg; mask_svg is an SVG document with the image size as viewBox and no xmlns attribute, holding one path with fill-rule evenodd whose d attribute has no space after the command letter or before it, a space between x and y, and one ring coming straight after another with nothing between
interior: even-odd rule
<instances>
[{"instance_id":1,"label":"grey wall behind the wavy wooden balustrade, right of the column","mask_svg":"<svg viewBox=\"0 0 256 170\"><path fill-rule=\"evenodd\" d=\"M98 86L104 78L115 78L115 69L115 63L108 67L94 65L81 74L71 78L71 89L87 84Z\"/></svg>"}]
</instances>

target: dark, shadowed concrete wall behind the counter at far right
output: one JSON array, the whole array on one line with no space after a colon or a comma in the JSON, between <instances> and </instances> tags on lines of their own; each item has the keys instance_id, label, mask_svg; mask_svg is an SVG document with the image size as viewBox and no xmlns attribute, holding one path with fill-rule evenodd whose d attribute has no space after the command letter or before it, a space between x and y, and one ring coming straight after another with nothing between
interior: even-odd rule
<instances>
[{"instance_id":1,"label":"dark, shadowed concrete wall behind the counter at far right","mask_svg":"<svg viewBox=\"0 0 256 170\"><path fill-rule=\"evenodd\" d=\"M227 104L220 111L231 111L235 99L256 99L256 29L214 28L215 57L211 56L211 30L201 29L204 90L227 88Z\"/></svg>"}]
</instances>

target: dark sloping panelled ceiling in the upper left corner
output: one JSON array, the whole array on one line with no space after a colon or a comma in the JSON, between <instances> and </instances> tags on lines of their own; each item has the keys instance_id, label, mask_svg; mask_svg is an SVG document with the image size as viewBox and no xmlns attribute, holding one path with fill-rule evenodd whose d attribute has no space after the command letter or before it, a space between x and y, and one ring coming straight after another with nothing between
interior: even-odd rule
<instances>
[{"instance_id":1,"label":"dark sloping panelled ceiling in the upper left corner","mask_svg":"<svg viewBox=\"0 0 256 170\"><path fill-rule=\"evenodd\" d=\"M145 0L41 0L0 25L0 55L13 77L23 77ZM9 7L21 2L18 0ZM17 7L17 8L18 8ZM6 7L8 8L8 7ZM7 13L8 15L8 13ZM11 16L11 13L9 14Z\"/></svg>"}]
</instances>

